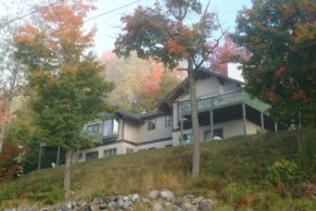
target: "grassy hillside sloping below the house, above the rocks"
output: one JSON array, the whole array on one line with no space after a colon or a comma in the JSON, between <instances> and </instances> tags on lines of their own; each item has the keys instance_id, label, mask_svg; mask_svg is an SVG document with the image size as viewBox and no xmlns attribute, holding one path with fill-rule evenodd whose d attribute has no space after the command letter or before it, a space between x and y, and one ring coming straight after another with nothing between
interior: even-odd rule
<instances>
[{"instance_id":1,"label":"grassy hillside sloping below the house, above the rocks","mask_svg":"<svg viewBox=\"0 0 316 211\"><path fill-rule=\"evenodd\" d=\"M191 147L139 151L75 164L74 198L141 193L169 188L178 196L212 196L217 210L316 210L311 199L269 186L267 167L280 159L298 157L295 133L239 136L202 145L201 177L190 176ZM22 201L63 200L63 166L33 172L2 184L2 206ZM314 201L315 202L315 201ZM0 204L1 206L1 204Z\"/></svg>"}]
</instances>

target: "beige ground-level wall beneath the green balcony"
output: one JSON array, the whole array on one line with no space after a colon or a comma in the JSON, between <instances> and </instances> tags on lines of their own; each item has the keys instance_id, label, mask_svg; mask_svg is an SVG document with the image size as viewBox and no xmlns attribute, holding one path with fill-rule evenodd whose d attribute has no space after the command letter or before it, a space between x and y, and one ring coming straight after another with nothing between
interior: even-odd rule
<instances>
[{"instance_id":1,"label":"beige ground-level wall beneath the green balcony","mask_svg":"<svg viewBox=\"0 0 316 211\"><path fill-rule=\"evenodd\" d=\"M243 121L242 120L236 120L236 121L230 121L230 122L225 122L225 123L219 123L214 125L214 129L217 128L223 128L223 136L224 138L229 138L233 136L239 136L243 134ZM204 132L210 131L211 126L201 126L200 127L200 139L201 141L204 140ZM261 131L261 127L257 126L256 124L247 121L247 134L256 134L258 131ZM184 134L192 134L192 129L185 129ZM177 146L180 144L180 132L175 132L173 134L173 142L174 146Z\"/></svg>"}]
</instances>

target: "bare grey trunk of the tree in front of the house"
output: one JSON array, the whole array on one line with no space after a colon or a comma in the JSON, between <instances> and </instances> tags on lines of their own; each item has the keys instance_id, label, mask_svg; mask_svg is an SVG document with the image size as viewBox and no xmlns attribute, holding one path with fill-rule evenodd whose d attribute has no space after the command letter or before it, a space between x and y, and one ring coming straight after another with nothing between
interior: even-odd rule
<instances>
[{"instance_id":1,"label":"bare grey trunk of the tree in front of the house","mask_svg":"<svg viewBox=\"0 0 316 211\"><path fill-rule=\"evenodd\" d=\"M192 176L198 177L200 174L200 131L199 131L199 117L198 117L198 103L197 103L197 91L195 91L195 78L192 59L188 60L188 77L189 77L189 90L191 101L191 119L192 119L192 131L193 131L193 158L192 158Z\"/></svg>"}]
</instances>

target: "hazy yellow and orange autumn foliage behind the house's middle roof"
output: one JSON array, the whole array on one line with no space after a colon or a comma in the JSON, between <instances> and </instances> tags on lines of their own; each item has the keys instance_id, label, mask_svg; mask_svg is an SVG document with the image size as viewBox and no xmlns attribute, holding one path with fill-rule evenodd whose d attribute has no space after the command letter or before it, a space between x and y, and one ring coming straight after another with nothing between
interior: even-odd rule
<instances>
[{"instance_id":1,"label":"hazy yellow and orange autumn foliage behind the house's middle roof","mask_svg":"<svg viewBox=\"0 0 316 211\"><path fill-rule=\"evenodd\" d=\"M137 113L153 110L184 78L181 72L168 71L163 64L139 59L135 53L118 59L113 52L104 52L99 60L105 66L105 78L116 85L106 99L109 104Z\"/></svg>"}]
</instances>

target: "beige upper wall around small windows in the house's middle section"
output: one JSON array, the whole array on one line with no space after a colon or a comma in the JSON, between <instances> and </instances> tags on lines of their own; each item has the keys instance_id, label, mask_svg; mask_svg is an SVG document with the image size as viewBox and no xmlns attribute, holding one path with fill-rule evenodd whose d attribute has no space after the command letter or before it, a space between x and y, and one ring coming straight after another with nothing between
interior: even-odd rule
<instances>
[{"instance_id":1,"label":"beige upper wall around small windows in the house's middle section","mask_svg":"<svg viewBox=\"0 0 316 211\"><path fill-rule=\"evenodd\" d=\"M165 126L165 115L155 117L155 129L148 131L147 121L139 127L139 141L157 140L173 136L173 128Z\"/></svg>"}]
</instances>

